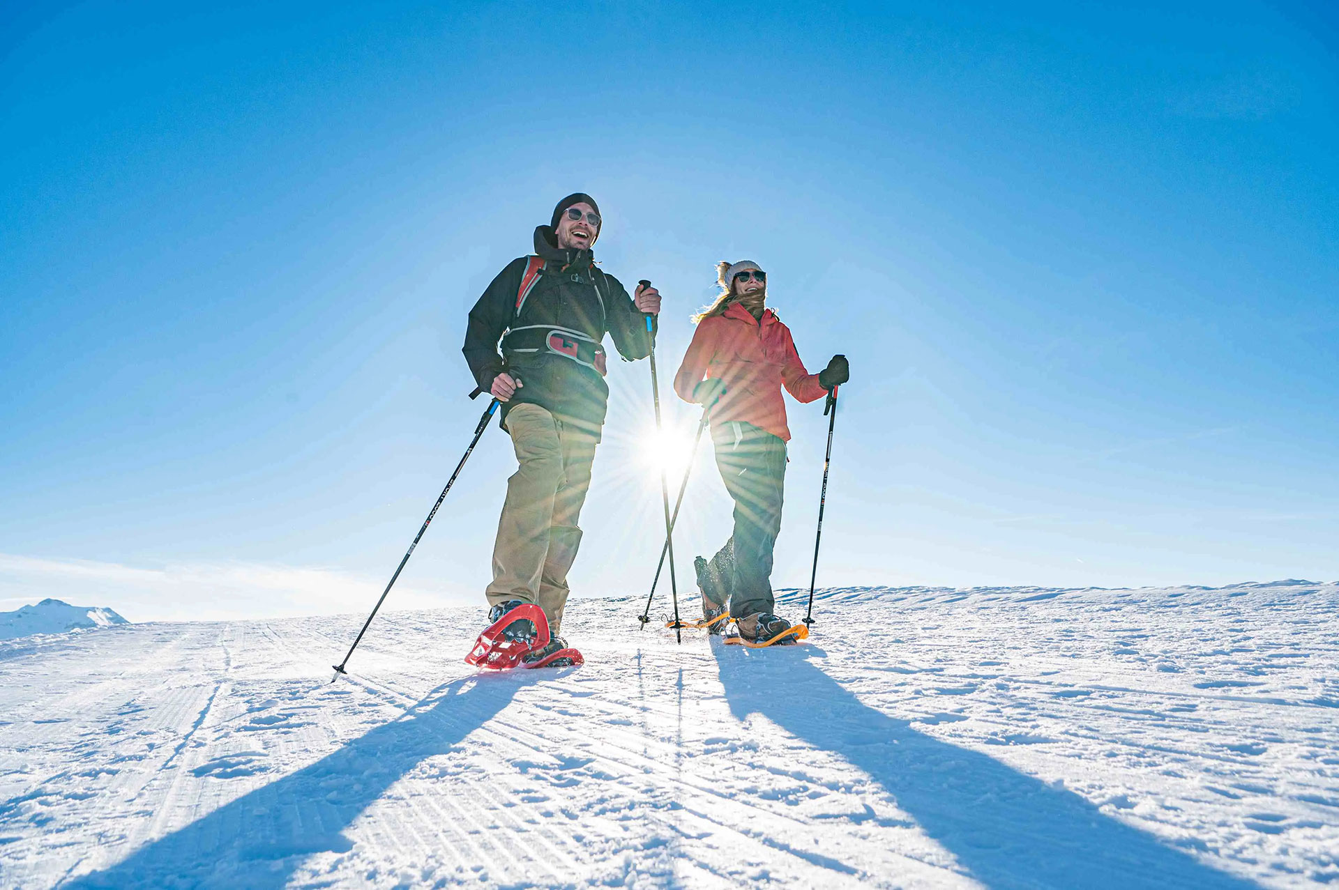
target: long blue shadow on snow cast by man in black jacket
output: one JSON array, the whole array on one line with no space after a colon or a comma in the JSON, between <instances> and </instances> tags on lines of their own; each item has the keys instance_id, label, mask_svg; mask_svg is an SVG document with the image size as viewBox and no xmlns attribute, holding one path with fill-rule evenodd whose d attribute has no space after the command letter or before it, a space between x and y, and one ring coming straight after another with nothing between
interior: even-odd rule
<instances>
[{"instance_id":1,"label":"long blue shadow on snow cast by man in black jacket","mask_svg":"<svg viewBox=\"0 0 1339 890\"><path fill-rule=\"evenodd\" d=\"M283 887L307 855L351 850L341 832L392 783L447 752L537 680L529 672L482 675L439 687L404 716L309 767L63 886Z\"/></svg>"}]
</instances>

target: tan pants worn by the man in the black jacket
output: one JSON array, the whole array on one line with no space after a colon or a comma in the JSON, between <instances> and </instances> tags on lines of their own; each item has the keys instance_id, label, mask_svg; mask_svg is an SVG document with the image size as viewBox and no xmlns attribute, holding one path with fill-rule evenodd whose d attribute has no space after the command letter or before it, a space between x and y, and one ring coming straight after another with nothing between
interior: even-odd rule
<instances>
[{"instance_id":1,"label":"tan pants worn by the man in the black jacket","mask_svg":"<svg viewBox=\"0 0 1339 890\"><path fill-rule=\"evenodd\" d=\"M506 483L486 596L489 605L537 604L558 633L568 570L581 545L577 518L590 487L596 439L536 404L510 408L506 428L520 466Z\"/></svg>"}]
</instances>

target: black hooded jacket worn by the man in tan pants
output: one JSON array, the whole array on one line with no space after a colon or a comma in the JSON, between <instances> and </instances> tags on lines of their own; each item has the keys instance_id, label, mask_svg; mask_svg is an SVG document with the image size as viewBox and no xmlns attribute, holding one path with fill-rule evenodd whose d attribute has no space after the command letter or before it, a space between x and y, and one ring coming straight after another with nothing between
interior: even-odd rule
<instances>
[{"instance_id":1,"label":"black hooded jacket worn by the man in tan pants","mask_svg":"<svg viewBox=\"0 0 1339 890\"><path fill-rule=\"evenodd\" d=\"M617 278L592 265L589 250L556 248L549 226L534 230L534 252L544 260L544 269L520 313L516 297L528 257L509 262L470 309L465 360L485 392L503 369L521 377L524 385L502 406L503 426L509 406L532 403L599 438L609 387L595 368L545 349L545 328L577 331L595 343L609 333L619 353L633 361L651 352L645 316L637 312ZM503 339L516 328L526 331Z\"/></svg>"}]
</instances>

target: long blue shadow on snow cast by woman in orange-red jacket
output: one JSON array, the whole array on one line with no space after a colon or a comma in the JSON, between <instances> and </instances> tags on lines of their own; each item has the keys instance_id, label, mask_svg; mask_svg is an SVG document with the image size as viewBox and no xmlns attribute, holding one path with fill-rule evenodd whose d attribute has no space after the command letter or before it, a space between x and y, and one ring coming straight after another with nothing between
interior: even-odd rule
<instances>
[{"instance_id":1,"label":"long blue shadow on snow cast by woman in orange-red jacket","mask_svg":"<svg viewBox=\"0 0 1339 890\"><path fill-rule=\"evenodd\" d=\"M1257 887L1103 815L1077 794L861 704L810 660L821 652L811 645L750 650L714 638L712 646L736 719L761 713L842 756L990 887ZM841 850L823 854L841 858Z\"/></svg>"}]
</instances>

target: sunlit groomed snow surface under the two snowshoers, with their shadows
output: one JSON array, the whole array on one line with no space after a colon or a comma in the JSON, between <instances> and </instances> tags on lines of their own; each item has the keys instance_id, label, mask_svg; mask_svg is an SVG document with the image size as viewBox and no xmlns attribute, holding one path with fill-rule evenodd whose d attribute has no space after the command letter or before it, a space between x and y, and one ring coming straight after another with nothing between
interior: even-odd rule
<instances>
[{"instance_id":1,"label":"sunlit groomed snow surface under the two snowshoers, with their shadows","mask_svg":"<svg viewBox=\"0 0 1339 890\"><path fill-rule=\"evenodd\" d=\"M390 613L333 685L363 616L12 640L0 885L1336 883L1336 606L838 589L747 650L580 600L584 668L502 675Z\"/></svg>"}]
</instances>

